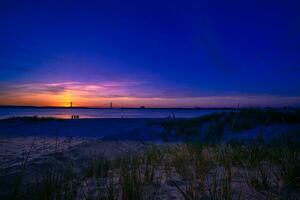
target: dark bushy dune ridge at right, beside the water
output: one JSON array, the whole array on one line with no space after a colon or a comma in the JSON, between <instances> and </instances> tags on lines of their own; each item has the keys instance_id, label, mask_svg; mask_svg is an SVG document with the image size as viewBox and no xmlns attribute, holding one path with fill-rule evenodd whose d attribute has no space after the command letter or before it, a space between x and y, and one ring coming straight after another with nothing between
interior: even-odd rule
<instances>
[{"instance_id":1,"label":"dark bushy dune ridge at right, beside the water","mask_svg":"<svg viewBox=\"0 0 300 200\"><path fill-rule=\"evenodd\" d=\"M215 142L227 132L241 132L258 126L270 124L299 124L299 109L241 109L214 113L193 119L168 118L160 123L164 128L162 137L168 141L168 136L190 137L197 135L199 129L205 132L205 140Z\"/></svg>"}]
</instances>

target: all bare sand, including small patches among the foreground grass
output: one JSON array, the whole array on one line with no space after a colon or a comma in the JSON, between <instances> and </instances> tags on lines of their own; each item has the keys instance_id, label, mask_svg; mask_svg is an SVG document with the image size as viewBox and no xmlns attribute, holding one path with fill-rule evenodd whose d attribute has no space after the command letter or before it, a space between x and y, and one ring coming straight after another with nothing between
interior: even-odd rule
<instances>
[{"instance_id":1,"label":"all bare sand, including small patches among the foreground grass","mask_svg":"<svg viewBox=\"0 0 300 200\"><path fill-rule=\"evenodd\" d=\"M174 145L162 141L163 129L153 122L157 119L0 120L1 183L11 182L24 162L27 163L24 179L31 181L51 165L63 166L71 161L79 169L93 156L115 159L143 153L154 144ZM256 127L239 134L229 133L225 139L251 140L260 130L261 127ZM265 134L271 138L293 130L300 130L300 125L272 124L266 127ZM159 174L159 170L156 173ZM169 180L162 179L160 199L183 199L174 183L186 187L176 174ZM87 179L86 184L97 188L93 178ZM237 188L241 186L239 180L234 180L234 184ZM243 190L251 194L249 189Z\"/></svg>"}]
</instances>

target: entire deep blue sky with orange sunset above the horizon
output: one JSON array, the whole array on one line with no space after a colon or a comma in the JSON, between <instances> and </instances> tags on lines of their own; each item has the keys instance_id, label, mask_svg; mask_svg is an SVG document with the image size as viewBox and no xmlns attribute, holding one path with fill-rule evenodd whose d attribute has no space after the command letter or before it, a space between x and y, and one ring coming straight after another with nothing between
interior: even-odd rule
<instances>
[{"instance_id":1,"label":"entire deep blue sky with orange sunset above the horizon","mask_svg":"<svg viewBox=\"0 0 300 200\"><path fill-rule=\"evenodd\" d=\"M1 0L0 105L300 105L298 0Z\"/></svg>"}]
</instances>

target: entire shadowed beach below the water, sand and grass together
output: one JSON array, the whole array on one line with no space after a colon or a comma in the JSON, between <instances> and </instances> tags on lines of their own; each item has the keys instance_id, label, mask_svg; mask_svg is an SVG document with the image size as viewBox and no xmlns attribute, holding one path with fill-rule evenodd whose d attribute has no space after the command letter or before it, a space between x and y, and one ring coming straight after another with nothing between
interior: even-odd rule
<instances>
[{"instance_id":1,"label":"entire shadowed beach below the water, sand and grass together","mask_svg":"<svg viewBox=\"0 0 300 200\"><path fill-rule=\"evenodd\" d=\"M66 189L52 188L47 195L110 199L114 191L113 199L277 198L285 181L297 177L299 119L290 111L245 110L190 119L0 120L0 195L32 197L27 190L48 191L49 184L64 183ZM285 174L287 169L295 174ZM262 180L256 170L268 178ZM249 178L269 186L259 189ZM284 194L297 198L298 183L293 184ZM271 189L276 192L265 193Z\"/></svg>"}]
</instances>

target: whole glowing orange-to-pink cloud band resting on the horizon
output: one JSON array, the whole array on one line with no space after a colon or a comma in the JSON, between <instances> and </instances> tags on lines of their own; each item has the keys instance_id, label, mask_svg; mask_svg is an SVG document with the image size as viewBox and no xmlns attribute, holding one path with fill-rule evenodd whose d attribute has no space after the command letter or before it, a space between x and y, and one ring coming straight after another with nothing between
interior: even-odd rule
<instances>
[{"instance_id":1,"label":"whole glowing orange-to-pink cloud band resting on the horizon","mask_svg":"<svg viewBox=\"0 0 300 200\"><path fill-rule=\"evenodd\" d=\"M199 95L189 88L151 87L138 81L102 83L56 82L1 84L0 104L16 105L68 105L70 101L82 106L103 105L113 101L119 106L148 107L236 107L299 105L298 96L268 94ZM102 104L101 104L102 103Z\"/></svg>"}]
</instances>

